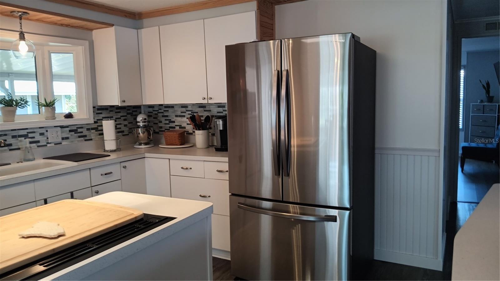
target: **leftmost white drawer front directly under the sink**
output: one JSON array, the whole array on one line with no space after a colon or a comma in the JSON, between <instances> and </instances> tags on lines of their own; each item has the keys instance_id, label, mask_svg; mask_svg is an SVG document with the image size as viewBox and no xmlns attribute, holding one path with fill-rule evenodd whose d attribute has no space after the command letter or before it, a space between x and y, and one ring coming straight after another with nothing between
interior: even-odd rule
<instances>
[{"instance_id":1,"label":"leftmost white drawer front directly under the sink","mask_svg":"<svg viewBox=\"0 0 500 281\"><path fill-rule=\"evenodd\" d=\"M0 209L35 200L33 181L25 181L0 187Z\"/></svg>"}]
</instances>

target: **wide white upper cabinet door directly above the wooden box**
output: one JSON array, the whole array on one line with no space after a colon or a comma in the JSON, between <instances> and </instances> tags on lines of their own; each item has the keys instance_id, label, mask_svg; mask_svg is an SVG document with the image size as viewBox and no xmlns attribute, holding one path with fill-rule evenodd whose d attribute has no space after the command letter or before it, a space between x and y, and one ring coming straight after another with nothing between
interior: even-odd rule
<instances>
[{"instance_id":1,"label":"wide white upper cabinet door directly above the wooden box","mask_svg":"<svg viewBox=\"0 0 500 281\"><path fill-rule=\"evenodd\" d=\"M159 27L164 103L206 102L203 20Z\"/></svg>"}]
</instances>

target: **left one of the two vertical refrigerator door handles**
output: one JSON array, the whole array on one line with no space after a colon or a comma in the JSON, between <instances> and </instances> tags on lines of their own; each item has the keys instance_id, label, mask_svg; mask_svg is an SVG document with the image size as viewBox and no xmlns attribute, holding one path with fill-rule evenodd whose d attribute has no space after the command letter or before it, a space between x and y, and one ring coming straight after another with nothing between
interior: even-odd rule
<instances>
[{"instance_id":1,"label":"left one of the two vertical refrigerator door handles","mask_svg":"<svg viewBox=\"0 0 500 281\"><path fill-rule=\"evenodd\" d=\"M279 161L279 70L274 70L272 73L272 103L271 103L271 119L272 119L272 160L274 164L274 175L281 173L281 165Z\"/></svg>"}]
</instances>

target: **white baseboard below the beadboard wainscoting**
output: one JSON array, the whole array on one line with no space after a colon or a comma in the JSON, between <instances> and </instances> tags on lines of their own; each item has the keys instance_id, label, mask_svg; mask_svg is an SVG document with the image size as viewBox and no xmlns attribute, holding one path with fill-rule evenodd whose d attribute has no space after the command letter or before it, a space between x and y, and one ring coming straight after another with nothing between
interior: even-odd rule
<instances>
[{"instance_id":1,"label":"white baseboard below the beadboard wainscoting","mask_svg":"<svg viewBox=\"0 0 500 281\"><path fill-rule=\"evenodd\" d=\"M418 266L433 270L442 271L442 259L430 258L407 253L386 251L386 250L373 250L373 258L394 263L401 263L411 266Z\"/></svg>"}]
</instances>

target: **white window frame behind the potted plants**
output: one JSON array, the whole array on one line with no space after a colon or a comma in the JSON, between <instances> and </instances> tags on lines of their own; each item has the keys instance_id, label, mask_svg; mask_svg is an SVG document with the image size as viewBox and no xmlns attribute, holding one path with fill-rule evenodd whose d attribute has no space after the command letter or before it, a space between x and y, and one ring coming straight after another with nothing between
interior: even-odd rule
<instances>
[{"instance_id":1,"label":"white window frame behind the potted plants","mask_svg":"<svg viewBox=\"0 0 500 281\"><path fill-rule=\"evenodd\" d=\"M17 37L17 32L0 29L0 47L2 49L10 49L11 42L17 39ZM78 109L77 112L73 112L74 117L71 119L64 119L63 115L65 113L56 113L55 119L45 120L40 108L39 114L20 114L15 116L14 122L1 121L0 130L93 123L88 41L28 33L26 33L26 39L31 40L36 48L36 80L40 99L52 99L54 97L50 53L62 52L73 54L76 104Z\"/></svg>"}]
</instances>

